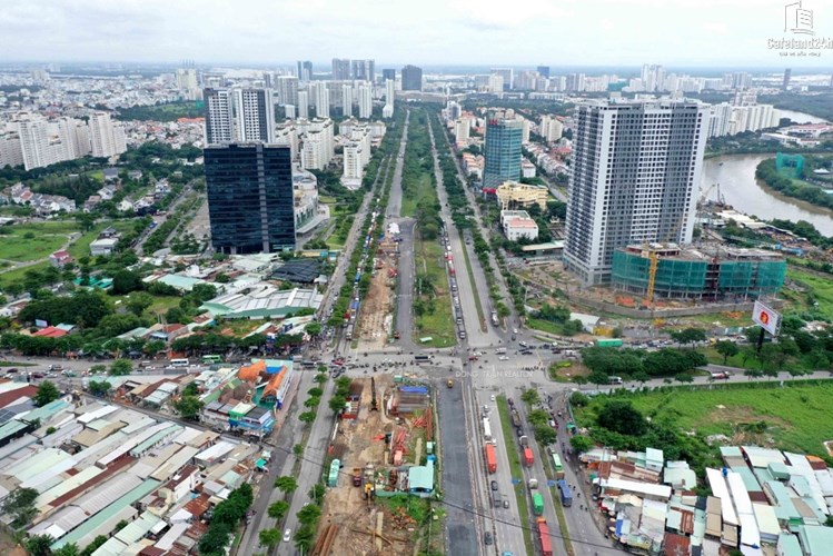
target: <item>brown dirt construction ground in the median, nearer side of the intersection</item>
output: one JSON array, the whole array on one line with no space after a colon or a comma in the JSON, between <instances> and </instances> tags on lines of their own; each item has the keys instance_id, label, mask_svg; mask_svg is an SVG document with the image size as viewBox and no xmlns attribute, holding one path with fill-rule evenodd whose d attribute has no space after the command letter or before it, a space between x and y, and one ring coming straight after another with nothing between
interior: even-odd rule
<instances>
[{"instance_id":1,"label":"brown dirt construction ground in the median, nearer side of the intersection","mask_svg":"<svg viewBox=\"0 0 833 556\"><path fill-rule=\"evenodd\" d=\"M350 480L354 467L364 468L368 463L377 468L387 467L384 460L386 445L380 437L384 437L386 433L393 433L404 424L403 421L397 425L395 417L388 417L381 410L384 396L394 386L391 377L385 375L376 377L376 395L380 408L378 411L370 410L370 379L365 379L363 383L364 391L358 418L341 421L331 448L333 455L341 458L343 474L338 486L328 488L319 534L329 525L338 526L338 540L330 553L334 556L345 547L349 547L349 554L357 556L411 555L414 554L413 524L409 524L407 517L401 519L398 513L395 519L394 513L383 499L377 498L368 503L364 497L364 488L353 486ZM406 460L410 460L411 457L411 454L407 454ZM381 519L379 530L384 540L374 540L370 534L379 528L378 519Z\"/></svg>"}]
</instances>

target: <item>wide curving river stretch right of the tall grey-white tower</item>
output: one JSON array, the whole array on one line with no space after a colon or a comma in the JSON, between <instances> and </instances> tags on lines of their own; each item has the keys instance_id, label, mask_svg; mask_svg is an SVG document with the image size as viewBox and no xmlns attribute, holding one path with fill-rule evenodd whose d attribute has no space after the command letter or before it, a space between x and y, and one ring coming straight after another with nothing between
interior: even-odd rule
<instances>
[{"instance_id":1,"label":"wide curving river stretch right of the tall grey-white tower","mask_svg":"<svg viewBox=\"0 0 833 556\"><path fill-rule=\"evenodd\" d=\"M721 193L735 210L754 215L764 220L806 220L825 236L833 236L833 211L792 200L774 191L767 191L755 181L755 168L765 158L774 155L726 155L704 160L701 190L720 183ZM716 199L716 188L710 195Z\"/></svg>"}]
</instances>

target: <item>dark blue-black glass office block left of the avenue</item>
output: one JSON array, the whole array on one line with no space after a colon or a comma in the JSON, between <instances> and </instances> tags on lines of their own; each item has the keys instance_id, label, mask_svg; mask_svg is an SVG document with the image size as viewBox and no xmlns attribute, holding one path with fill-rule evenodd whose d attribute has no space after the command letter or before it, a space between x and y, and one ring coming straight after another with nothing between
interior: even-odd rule
<instances>
[{"instance_id":1,"label":"dark blue-black glass office block left of the avenue","mask_svg":"<svg viewBox=\"0 0 833 556\"><path fill-rule=\"evenodd\" d=\"M295 248L289 147L228 143L205 149L211 245L241 255Z\"/></svg>"}]
</instances>

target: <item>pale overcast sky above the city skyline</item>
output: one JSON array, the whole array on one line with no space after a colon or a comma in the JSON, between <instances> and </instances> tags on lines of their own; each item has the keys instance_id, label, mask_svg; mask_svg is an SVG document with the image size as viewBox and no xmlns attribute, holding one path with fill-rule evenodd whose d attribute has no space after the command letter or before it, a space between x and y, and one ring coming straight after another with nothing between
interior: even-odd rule
<instances>
[{"instance_id":1,"label":"pale overcast sky above the city skyline","mask_svg":"<svg viewBox=\"0 0 833 556\"><path fill-rule=\"evenodd\" d=\"M0 61L793 67L795 0L0 0ZM826 4L826 6L825 6ZM816 37L833 2L803 0ZM320 64L319 64L320 67ZM326 69L326 68L321 68Z\"/></svg>"}]
</instances>

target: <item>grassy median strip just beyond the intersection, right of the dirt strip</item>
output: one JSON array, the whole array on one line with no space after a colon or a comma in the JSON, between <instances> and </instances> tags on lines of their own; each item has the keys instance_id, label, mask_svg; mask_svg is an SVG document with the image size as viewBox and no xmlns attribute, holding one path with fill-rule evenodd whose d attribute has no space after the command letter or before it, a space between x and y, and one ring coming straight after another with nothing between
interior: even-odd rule
<instances>
[{"instance_id":1,"label":"grassy median strip just beyond the intersection, right of the dirt strip","mask_svg":"<svg viewBox=\"0 0 833 556\"><path fill-rule=\"evenodd\" d=\"M456 342L443 252L443 247L436 241L417 240L416 242L417 275L427 272L435 288L434 310L415 317L415 339L432 337L432 341L423 344L426 347L448 347Z\"/></svg>"}]
</instances>

